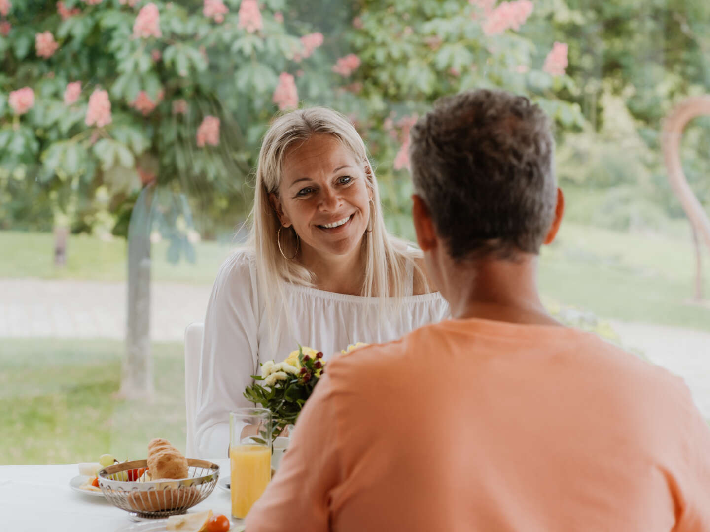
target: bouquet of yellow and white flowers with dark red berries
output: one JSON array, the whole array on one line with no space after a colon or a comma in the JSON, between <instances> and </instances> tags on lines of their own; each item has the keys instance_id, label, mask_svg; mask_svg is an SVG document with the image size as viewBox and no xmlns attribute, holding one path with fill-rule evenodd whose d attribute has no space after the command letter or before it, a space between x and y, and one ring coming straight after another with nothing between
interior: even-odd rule
<instances>
[{"instance_id":1,"label":"bouquet of yellow and white flowers with dark red berries","mask_svg":"<svg viewBox=\"0 0 710 532\"><path fill-rule=\"evenodd\" d=\"M350 345L342 353L359 348L364 343ZM261 375L252 375L254 384L246 387L244 397L271 411L271 440L293 425L303 405L313 393L325 372L323 353L299 346L283 362L268 360L261 365Z\"/></svg>"}]
</instances>

